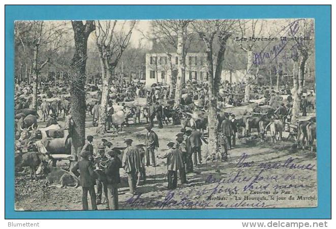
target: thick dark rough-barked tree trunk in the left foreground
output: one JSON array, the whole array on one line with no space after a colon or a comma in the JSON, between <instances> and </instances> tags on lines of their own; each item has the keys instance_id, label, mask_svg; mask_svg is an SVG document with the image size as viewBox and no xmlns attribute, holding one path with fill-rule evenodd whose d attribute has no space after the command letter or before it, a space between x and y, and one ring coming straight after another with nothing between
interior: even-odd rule
<instances>
[{"instance_id":1,"label":"thick dark rough-barked tree trunk in the left foreground","mask_svg":"<svg viewBox=\"0 0 336 229\"><path fill-rule=\"evenodd\" d=\"M71 21L74 30L75 53L71 60L73 75L70 81L71 115L74 121L72 155L77 159L85 143L85 67L87 59L87 38L95 30L94 21Z\"/></svg>"}]
</instances>

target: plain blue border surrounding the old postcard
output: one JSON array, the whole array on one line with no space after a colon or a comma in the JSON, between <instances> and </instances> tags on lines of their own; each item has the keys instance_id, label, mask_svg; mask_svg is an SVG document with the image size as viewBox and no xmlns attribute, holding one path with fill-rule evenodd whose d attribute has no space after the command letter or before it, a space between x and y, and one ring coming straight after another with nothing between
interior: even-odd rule
<instances>
[{"instance_id":1,"label":"plain blue border surrounding the old postcard","mask_svg":"<svg viewBox=\"0 0 336 229\"><path fill-rule=\"evenodd\" d=\"M318 207L300 209L14 211L14 21L164 18L315 18ZM5 217L14 218L330 218L330 6L6 6Z\"/></svg>"}]
</instances>

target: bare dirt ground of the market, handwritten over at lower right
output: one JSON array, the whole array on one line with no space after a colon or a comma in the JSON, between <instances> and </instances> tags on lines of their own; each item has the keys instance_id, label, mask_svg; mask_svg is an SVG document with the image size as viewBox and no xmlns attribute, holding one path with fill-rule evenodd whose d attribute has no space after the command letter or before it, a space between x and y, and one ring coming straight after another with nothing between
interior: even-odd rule
<instances>
[{"instance_id":1,"label":"bare dirt ground of the market, handwritten over at lower right","mask_svg":"<svg viewBox=\"0 0 336 229\"><path fill-rule=\"evenodd\" d=\"M141 120L143 123L145 120ZM61 125L63 121L59 121ZM113 147L124 147L124 139L132 138L133 145L142 144L146 130L144 124L132 124L125 133L104 138ZM39 123L42 127L45 123ZM159 155L167 143L175 140L180 126L164 125L154 131L159 136ZM96 135L91 117L86 119L86 135L94 135L94 145L102 137ZM256 134L256 133L253 133ZM119 209L195 209L195 208L287 208L317 206L316 153L297 150L294 140L276 144L260 142L256 137L237 139L236 147L229 151L228 162L207 161L207 146L202 146L203 163L187 174L188 184L178 182L177 189L167 189L165 159L157 159L160 166L146 167L147 182L137 187L138 195L128 195L127 177L120 169ZM66 161L57 166L69 169ZM16 210L81 210L81 187L57 188L44 179L32 181L27 170L18 173L15 180ZM89 204L90 207L90 204ZM106 210L106 204L98 205Z\"/></svg>"}]
</instances>

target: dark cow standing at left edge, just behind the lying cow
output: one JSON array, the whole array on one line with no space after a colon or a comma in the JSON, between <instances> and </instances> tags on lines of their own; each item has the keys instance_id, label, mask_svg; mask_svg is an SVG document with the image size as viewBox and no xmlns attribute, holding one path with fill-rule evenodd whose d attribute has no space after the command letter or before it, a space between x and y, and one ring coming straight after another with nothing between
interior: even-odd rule
<instances>
[{"instance_id":1,"label":"dark cow standing at left edge, just behind the lying cow","mask_svg":"<svg viewBox=\"0 0 336 229\"><path fill-rule=\"evenodd\" d=\"M15 168L19 171L22 167L28 166L30 170L30 179L34 179L34 176L37 180L36 170L38 166L40 166L43 161L48 160L49 157L47 155L35 151L15 154Z\"/></svg>"}]
</instances>

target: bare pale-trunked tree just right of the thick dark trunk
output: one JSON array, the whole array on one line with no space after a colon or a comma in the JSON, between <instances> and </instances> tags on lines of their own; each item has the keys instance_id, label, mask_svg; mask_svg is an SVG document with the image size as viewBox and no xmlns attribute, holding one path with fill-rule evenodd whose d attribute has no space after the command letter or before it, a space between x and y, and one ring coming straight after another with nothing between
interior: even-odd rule
<instances>
[{"instance_id":1,"label":"bare pale-trunked tree just right of the thick dark trunk","mask_svg":"<svg viewBox=\"0 0 336 229\"><path fill-rule=\"evenodd\" d=\"M105 133L105 123L107 118L107 103L109 82L114 70L121 58L121 55L127 48L133 28L136 24L135 20L129 21L129 29L126 33L117 31L117 20L111 21L96 21L96 44L98 47L99 58L102 68L102 101L100 106L100 117L98 121L97 133ZM126 26L126 21L120 24L121 28Z\"/></svg>"}]
</instances>

